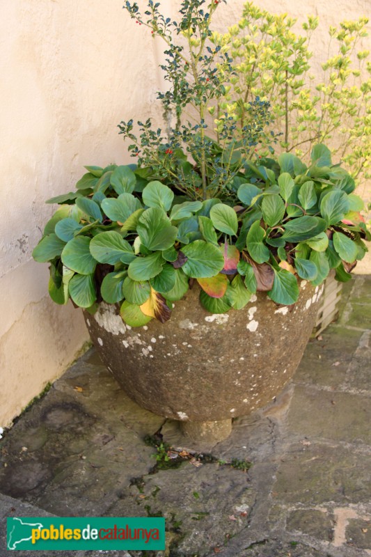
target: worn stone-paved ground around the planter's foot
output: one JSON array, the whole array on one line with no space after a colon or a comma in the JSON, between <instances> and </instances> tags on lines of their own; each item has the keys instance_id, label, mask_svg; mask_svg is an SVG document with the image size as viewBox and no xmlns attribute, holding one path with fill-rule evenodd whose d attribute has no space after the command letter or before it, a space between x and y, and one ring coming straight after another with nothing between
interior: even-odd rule
<instances>
[{"instance_id":1,"label":"worn stone-paved ground around the planter's foot","mask_svg":"<svg viewBox=\"0 0 371 557\"><path fill-rule=\"evenodd\" d=\"M358 276L276 402L173 468L153 444L174 444L174 423L130 401L90 350L0 443L0 556L7 516L47 513L164 515L166 552L143 557L370 556L370 316L371 277Z\"/></svg>"}]
</instances>

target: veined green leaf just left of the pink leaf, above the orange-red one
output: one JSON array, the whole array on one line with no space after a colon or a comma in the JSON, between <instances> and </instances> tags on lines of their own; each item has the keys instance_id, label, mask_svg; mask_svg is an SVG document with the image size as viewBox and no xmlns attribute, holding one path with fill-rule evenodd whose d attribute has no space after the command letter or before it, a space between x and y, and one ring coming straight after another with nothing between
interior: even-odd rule
<instances>
[{"instance_id":1,"label":"veined green leaf just left of the pink leaf, above the orange-red one","mask_svg":"<svg viewBox=\"0 0 371 557\"><path fill-rule=\"evenodd\" d=\"M187 256L182 269L185 274L193 278L214 276L224 267L223 254L219 248L203 240L196 240L184 246L182 252Z\"/></svg>"}]
</instances>

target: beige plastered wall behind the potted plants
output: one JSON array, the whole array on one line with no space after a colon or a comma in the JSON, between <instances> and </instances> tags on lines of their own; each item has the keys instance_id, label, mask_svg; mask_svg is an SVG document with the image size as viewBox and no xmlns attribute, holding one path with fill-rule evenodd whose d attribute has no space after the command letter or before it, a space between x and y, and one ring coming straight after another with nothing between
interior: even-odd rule
<instances>
[{"instance_id":1,"label":"beige plastered wall behind the potted plants","mask_svg":"<svg viewBox=\"0 0 371 557\"><path fill-rule=\"evenodd\" d=\"M258 0L326 29L370 12L370 0ZM6 427L88 340L81 313L47 295L47 265L31 252L55 207L85 164L130 161L117 124L159 120L161 43L132 21L123 0L0 1L0 426ZM143 1L139 1L144 6ZM175 15L178 1L161 3ZM240 16L229 0L219 31ZM370 14L369 14L370 15Z\"/></svg>"}]
</instances>

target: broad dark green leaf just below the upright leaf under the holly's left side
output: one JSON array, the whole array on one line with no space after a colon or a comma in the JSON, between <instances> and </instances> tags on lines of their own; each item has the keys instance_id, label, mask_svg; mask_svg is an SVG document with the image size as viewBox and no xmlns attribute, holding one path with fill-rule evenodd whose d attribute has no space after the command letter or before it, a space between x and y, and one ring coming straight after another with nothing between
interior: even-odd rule
<instances>
[{"instance_id":1,"label":"broad dark green leaf just below the upright leaf under the holly's left side","mask_svg":"<svg viewBox=\"0 0 371 557\"><path fill-rule=\"evenodd\" d=\"M177 237L176 226L171 225L166 212L159 207L146 209L139 218L136 230L142 244L151 251L170 248Z\"/></svg>"}]
</instances>

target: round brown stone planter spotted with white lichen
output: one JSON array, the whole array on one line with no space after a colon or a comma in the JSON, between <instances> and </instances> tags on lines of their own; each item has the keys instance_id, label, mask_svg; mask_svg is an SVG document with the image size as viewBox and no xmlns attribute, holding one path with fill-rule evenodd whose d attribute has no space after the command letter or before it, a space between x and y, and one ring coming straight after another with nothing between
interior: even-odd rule
<instances>
[{"instance_id":1,"label":"round brown stone planter spotted with white lichen","mask_svg":"<svg viewBox=\"0 0 371 557\"><path fill-rule=\"evenodd\" d=\"M102 360L130 398L187 423L191 437L210 436L215 427L226 437L231 418L267 405L299 365L322 294L301 285L294 306L276 306L258 292L243 310L215 315L200 306L197 286L177 301L171 320L138 329L123 323L116 306L101 304L84 315Z\"/></svg>"}]
</instances>

